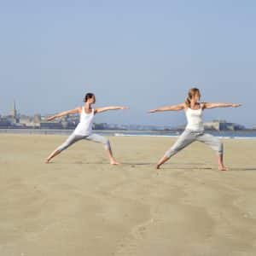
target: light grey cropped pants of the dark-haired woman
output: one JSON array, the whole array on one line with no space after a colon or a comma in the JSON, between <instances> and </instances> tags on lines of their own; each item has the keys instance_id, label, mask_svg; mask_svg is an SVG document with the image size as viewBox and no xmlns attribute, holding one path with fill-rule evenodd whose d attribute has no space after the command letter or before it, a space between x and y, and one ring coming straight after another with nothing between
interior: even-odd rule
<instances>
[{"instance_id":1,"label":"light grey cropped pants of the dark-haired woman","mask_svg":"<svg viewBox=\"0 0 256 256\"><path fill-rule=\"evenodd\" d=\"M82 136L82 135L76 135L72 133L66 140L65 143L61 144L59 148L57 148L58 151L63 151L66 148L70 147L73 143L77 143L78 141L85 139L89 141L93 141L96 143L102 143L104 145L105 149L110 149L110 143L106 137L102 137L98 134L90 134L89 136Z\"/></svg>"}]
</instances>

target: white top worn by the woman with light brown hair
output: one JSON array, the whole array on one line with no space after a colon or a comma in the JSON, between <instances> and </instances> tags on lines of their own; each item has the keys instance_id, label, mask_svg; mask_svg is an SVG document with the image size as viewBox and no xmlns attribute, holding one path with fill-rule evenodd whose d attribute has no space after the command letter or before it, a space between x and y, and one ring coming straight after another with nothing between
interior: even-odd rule
<instances>
[{"instance_id":1,"label":"white top worn by the woman with light brown hair","mask_svg":"<svg viewBox=\"0 0 256 256\"><path fill-rule=\"evenodd\" d=\"M204 131L204 123L202 120L203 109L188 108L185 112L188 119L188 125L186 126L186 130Z\"/></svg>"}]
</instances>

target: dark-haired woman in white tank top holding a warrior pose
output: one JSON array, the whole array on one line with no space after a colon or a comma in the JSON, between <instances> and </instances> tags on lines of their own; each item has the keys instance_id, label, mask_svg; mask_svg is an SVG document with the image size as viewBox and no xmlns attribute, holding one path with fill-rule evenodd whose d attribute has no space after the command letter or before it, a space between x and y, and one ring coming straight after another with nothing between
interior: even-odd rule
<instances>
[{"instance_id":1,"label":"dark-haired woman in white tank top holding a warrior pose","mask_svg":"<svg viewBox=\"0 0 256 256\"><path fill-rule=\"evenodd\" d=\"M86 139L89 141L93 141L96 143L102 143L104 148L108 152L108 157L111 165L118 165L119 163L114 160L112 150L110 147L110 143L107 138L102 137L98 134L92 133L92 125L93 119L96 113L102 113L108 110L115 109L127 109L125 107L106 107L106 108L91 108L91 105L96 102L96 97L92 93L87 93L84 97L84 107L74 108L72 110L68 110L65 112L61 112L55 114L48 118L48 120L53 120L56 118L60 118L67 114L79 113L80 114L80 122L73 133L67 138L67 141L61 144L60 147L56 148L49 157L45 160L46 163L49 163L51 159L53 159L57 154L60 154L63 150L70 147L73 143L77 143L79 140Z\"/></svg>"}]
</instances>

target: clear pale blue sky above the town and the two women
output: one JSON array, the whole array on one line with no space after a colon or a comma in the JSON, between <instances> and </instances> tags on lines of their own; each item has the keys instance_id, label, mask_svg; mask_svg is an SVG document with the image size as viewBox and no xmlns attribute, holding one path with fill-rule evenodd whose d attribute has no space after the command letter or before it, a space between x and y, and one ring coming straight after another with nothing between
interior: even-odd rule
<instances>
[{"instance_id":1,"label":"clear pale blue sky above the town and the two women","mask_svg":"<svg viewBox=\"0 0 256 256\"><path fill-rule=\"evenodd\" d=\"M183 125L184 113L147 113L184 101L241 108L205 120L256 125L256 2L0 0L0 114L57 113L96 94L96 106L127 106L96 122Z\"/></svg>"}]
</instances>

